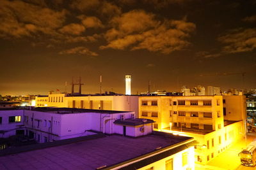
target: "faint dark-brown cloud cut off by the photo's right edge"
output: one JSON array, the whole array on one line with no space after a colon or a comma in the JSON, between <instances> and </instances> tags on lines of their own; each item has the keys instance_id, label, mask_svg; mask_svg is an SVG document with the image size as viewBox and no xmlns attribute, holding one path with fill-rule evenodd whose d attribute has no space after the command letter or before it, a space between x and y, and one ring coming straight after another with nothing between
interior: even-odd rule
<instances>
[{"instance_id":1,"label":"faint dark-brown cloud cut off by the photo's right edge","mask_svg":"<svg viewBox=\"0 0 256 170\"><path fill-rule=\"evenodd\" d=\"M220 36L224 53L251 52L256 48L256 29L234 29Z\"/></svg>"}]
</instances>

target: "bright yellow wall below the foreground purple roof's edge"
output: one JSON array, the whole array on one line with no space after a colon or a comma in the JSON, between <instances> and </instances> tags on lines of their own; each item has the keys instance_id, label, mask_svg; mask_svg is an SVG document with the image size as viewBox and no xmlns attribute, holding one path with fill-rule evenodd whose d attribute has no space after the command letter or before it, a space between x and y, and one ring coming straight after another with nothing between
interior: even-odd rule
<instances>
[{"instance_id":1,"label":"bright yellow wall below the foreground purple roof's edge","mask_svg":"<svg viewBox=\"0 0 256 170\"><path fill-rule=\"evenodd\" d=\"M187 164L184 166L182 165L182 154L188 153L188 157L186 159ZM152 164L149 164L145 167L141 167L139 170L145 170L149 169L150 167L153 167L153 169L166 169L166 162L168 160L173 160L173 170L186 170L186 169L195 169L195 159L194 159L194 148L193 146L187 148L186 150L182 150L181 152L175 153L169 157L166 157L164 159L158 160Z\"/></svg>"}]
</instances>

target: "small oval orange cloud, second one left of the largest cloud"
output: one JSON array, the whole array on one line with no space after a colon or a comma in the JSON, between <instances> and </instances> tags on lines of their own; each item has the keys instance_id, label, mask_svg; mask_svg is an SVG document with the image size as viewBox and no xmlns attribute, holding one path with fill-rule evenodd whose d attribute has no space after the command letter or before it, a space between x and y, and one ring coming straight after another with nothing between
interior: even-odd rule
<instances>
[{"instance_id":1,"label":"small oval orange cloud, second one left of the largest cloud","mask_svg":"<svg viewBox=\"0 0 256 170\"><path fill-rule=\"evenodd\" d=\"M84 26L80 24L68 24L60 29L60 32L64 34L73 34L73 35L79 35L84 31L85 31Z\"/></svg>"}]
</instances>

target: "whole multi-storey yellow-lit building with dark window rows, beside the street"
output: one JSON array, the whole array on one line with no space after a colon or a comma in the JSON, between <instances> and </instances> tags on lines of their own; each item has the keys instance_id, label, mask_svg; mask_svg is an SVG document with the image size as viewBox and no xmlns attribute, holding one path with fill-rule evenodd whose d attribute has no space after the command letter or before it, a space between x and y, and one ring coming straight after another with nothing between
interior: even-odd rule
<instances>
[{"instance_id":1,"label":"whole multi-storey yellow-lit building with dark window rows, beside the street","mask_svg":"<svg viewBox=\"0 0 256 170\"><path fill-rule=\"evenodd\" d=\"M244 137L244 96L143 96L139 117L150 118L156 131L193 137L195 162L207 164Z\"/></svg>"}]
</instances>

